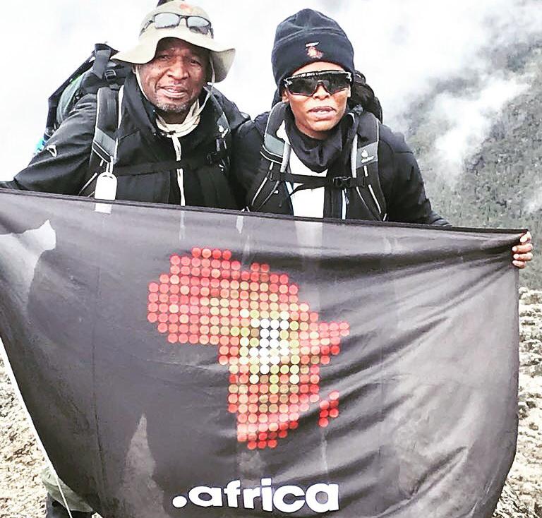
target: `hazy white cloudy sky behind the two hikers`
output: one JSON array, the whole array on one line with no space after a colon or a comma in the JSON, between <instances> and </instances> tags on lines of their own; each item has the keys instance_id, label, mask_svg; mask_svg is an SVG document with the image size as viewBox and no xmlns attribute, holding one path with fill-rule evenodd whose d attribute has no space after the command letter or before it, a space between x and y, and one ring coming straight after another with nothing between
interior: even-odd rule
<instances>
[{"instance_id":1,"label":"hazy white cloudy sky behind the two hikers","mask_svg":"<svg viewBox=\"0 0 542 518\"><path fill-rule=\"evenodd\" d=\"M243 111L268 109L275 85L270 54L277 23L311 7L336 18L354 43L356 66L382 101L385 122L404 129L413 102L442 80L469 78L464 95L435 97L442 124L440 154L450 174L479 145L502 105L529 88L490 59L495 49L532 42L542 29L541 0L200 0L217 40L237 48L229 78L219 85ZM47 0L3 4L0 63L0 178L25 166L40 139L47 97L83 61L95 42L117 49L137 39L151 0ZM469 118L466 124L464 114ZM454 152L450 155L450 148Z\"/></svg>"}]
</instances>

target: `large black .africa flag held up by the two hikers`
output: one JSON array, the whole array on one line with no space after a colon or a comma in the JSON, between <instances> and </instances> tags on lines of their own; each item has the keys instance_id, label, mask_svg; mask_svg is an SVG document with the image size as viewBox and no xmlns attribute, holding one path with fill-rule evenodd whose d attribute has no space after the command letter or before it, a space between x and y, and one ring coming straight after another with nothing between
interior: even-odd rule
<instances>
[{"instance_id":1,"label":"large black .africa flag held up by the two hikers","mask_svg":"<svg viewBox=\"0 0 542 518\"><path fill-rule=\"evenodd\" d=\"M104 518L490 518L520 231L0 193L0 336Z\"/></svg>"}]
</instances>

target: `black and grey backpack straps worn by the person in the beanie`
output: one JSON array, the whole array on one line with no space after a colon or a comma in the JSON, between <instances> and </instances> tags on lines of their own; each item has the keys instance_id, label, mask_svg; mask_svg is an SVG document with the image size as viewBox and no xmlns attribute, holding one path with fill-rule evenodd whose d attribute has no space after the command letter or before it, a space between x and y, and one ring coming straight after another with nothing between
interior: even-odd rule
<instances>
[{"instance_id":1,"label":"black and grey backpack straps worn by the person in the beanie","mask_svg":"<svg viewBox=\"0 0 542 518\"><path fill-rule=\"evenodd\" d=\"M385 221L386 200L380 187L378 176L378 143L380 140L379 121L371 112L361 106L351 111L352 116L359 117L360 124L354 137L351 150L351 171L349 176L306 176L289 172L289 145L277 137L277 131L284 124L287 104L279 102L271 110L267 119L263 145L260 150L262 159L260 171L265 171L263 182L256 189L251 200L250 210L257 212L275 193L279 183L297 183L296 191L320 187L336 188L349 191L350 195L359 197L368 215L377 221ZM258 197L263 192L265 183L272 182L274 187L262 201Z\"/></svg>"}]
</instances>

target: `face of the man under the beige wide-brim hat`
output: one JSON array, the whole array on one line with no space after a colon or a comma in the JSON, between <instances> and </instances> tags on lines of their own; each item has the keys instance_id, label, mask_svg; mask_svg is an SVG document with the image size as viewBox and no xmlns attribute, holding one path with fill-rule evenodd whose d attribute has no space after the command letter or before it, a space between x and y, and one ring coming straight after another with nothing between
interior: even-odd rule
<instances>
[{"instance_id":1,"label":"face of the man under the beige wide-brim hat","mask_svg":"<svg viewBox=\"0 0 542 518\"><path fill-rule=\"evenodd\" d=\"M155 58L140 65L143 92L164 121L181 124L200 96L207 78L209 52L195 45L166 38L159 42Z\"/></svg>"}]
</instances>

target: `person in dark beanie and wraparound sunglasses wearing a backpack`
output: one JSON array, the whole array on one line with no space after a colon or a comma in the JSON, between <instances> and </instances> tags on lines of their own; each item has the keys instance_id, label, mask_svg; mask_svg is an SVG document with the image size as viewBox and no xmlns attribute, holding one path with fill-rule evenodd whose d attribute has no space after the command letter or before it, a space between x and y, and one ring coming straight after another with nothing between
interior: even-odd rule
<instances>
[{"instance_id":1,"label":"person in dark beanie and wraparound sunglasses wearing a backpack","mask_svg":"<svg viewBox=\"0 0 542 518\"><path fill-rule=\"evenodd\" d=\"M431 210L402 136L378 120L335 20L312 9L284 20L272 67L281 101L241 126L235 145L233 170L249 210L447 224Z\"/></svg>"}]
</instances>

